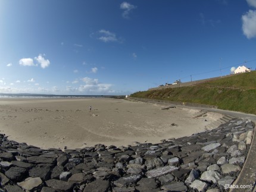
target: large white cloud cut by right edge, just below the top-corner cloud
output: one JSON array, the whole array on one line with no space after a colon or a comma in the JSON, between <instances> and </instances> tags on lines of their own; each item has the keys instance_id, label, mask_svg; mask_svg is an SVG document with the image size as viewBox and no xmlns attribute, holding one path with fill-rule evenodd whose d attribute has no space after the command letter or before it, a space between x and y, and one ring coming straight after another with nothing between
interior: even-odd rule
<instances>
[{"instance_id":1,"label":"large white cloud cut by right edge, just below the top-corner cloud","mask_svg":"<svg viewBox=\"0 0 256 192\"><path fill-rule=\"evenodd\" d=\"M256 37L256 11L249 10L242 15L242 30L248 39Z\"/></svg>"}]
</instances>

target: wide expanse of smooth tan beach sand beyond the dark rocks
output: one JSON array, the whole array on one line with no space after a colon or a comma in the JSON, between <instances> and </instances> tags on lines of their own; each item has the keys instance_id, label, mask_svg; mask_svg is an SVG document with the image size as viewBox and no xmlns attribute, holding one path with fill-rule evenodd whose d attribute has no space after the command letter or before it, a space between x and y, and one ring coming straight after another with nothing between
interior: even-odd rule
<instances>
[{"instance_id":1,"label":"wide expanse of smooth tan beach sand beyond the dark rocks","mask_svg":"<svg viewBox=\"0 0 256 192\"><path fill-rule=\"evenodd\" d=\"M208 112L192 118L198 110L161 108L123 99L0 99L0 133L43 149L126 146L190 136L222 117Z\"/></svg>"}]
</instances>

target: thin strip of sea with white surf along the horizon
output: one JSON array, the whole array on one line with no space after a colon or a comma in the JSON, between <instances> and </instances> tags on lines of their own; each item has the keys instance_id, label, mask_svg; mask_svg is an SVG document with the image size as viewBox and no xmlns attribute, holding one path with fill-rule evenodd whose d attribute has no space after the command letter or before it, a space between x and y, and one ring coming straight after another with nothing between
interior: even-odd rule
<instances>
[{"instance_id":1,"label":"thin strip of sea with white surf along the horizon","mask_svg":"<svg viewBox=\"0 0 256 192\"><path fill-rule=\"evenodd\" d=\"M65 98L120 98L123 96L116 95L46 95L46 94L31 94L31 93L0 93L1 98L20 98L20 99L65 99Z\"/></svg>"}]
</instances>

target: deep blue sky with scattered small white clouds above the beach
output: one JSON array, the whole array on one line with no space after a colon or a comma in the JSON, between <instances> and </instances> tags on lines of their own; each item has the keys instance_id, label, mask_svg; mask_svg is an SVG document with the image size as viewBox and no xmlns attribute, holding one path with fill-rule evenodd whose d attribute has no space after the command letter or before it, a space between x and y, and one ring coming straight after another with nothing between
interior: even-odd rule
<instances>
[{"instance_id":1,"label":"deep blue sky with scattered small white clouds above the beach","mask_svg":"<svg viewBox=\"0 0 256 192\"><path fill-rule=\"evenodd\" d=\"M0 93L126 95L256 68L256 0L0 0L0 29Z\"/></svg>"}]
</instances>

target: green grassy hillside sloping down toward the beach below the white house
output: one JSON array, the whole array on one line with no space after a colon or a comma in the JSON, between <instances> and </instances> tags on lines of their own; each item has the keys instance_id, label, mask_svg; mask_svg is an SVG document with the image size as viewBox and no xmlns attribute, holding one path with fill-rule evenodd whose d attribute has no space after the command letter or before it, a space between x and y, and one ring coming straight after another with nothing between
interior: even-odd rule
<instances>
[{"instance_id":1,"label":"green grassy hillside sloping down toward the beach below the white house","mask_svg":"<svg viewBox=\"0 0 256 192\"><path fill-rule=\"evenodd\" d=\"M148 90L131 96L215 105L218 109L256 114L256 71L196 86Z\"/></svg>"}]
</instances>

